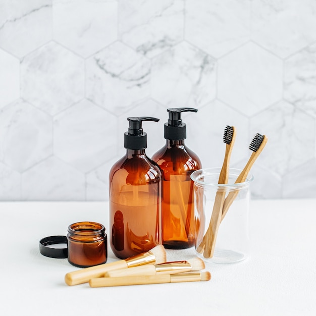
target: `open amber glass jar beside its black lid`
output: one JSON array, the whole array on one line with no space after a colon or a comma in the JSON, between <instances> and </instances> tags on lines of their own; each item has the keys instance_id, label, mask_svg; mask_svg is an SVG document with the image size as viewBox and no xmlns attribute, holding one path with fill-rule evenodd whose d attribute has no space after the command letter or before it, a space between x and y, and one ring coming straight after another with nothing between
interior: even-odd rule
<instances>
[{"instance_id":1,"label":"open amber glass jar beside its black lid","mask_svg":"<svg viewBox=\"0 0 316 316\"><path fill-rule=\"evenodd\" d=\"M68 227L68 261L86 268L105 264L108 259L106 229L94 222L78 222Z\"/></svg>"}]
</instances>

